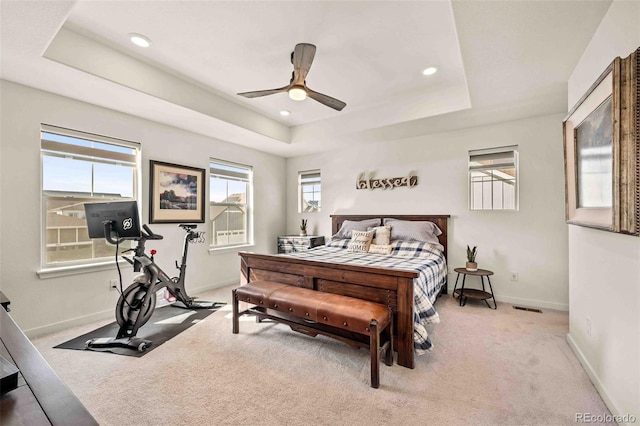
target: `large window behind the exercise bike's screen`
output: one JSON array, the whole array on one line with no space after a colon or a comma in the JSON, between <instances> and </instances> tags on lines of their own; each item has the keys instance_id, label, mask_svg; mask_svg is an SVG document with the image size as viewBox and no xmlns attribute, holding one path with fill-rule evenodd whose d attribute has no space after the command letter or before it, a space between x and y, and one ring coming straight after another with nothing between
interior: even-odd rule
<instances>
[{"instance_id":1,"label":"large window behind the exercise bike's screen","mask_svg":"<svg viewBox=\"0 0 640 426\"><path fill-rule=\"evenodd\" d=\"M137 199L139 144L44 124L40 137L43 266L113 258L115 246L89 238L84 204Z\"/></svg>"}]
</instances>

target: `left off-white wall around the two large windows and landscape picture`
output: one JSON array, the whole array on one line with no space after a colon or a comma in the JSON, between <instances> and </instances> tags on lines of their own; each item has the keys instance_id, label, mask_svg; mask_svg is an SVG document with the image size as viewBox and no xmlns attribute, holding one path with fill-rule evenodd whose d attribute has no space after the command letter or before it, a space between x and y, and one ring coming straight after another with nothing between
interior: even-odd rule
<instances>
[{"instance_id":1,"label":"left off-white wall around the two large windows and landscape picture","mask_svg":"<svg viewBox=\"0 0 640 426\"><path fill-rule=\"evenodd\" d=\"M215 157L254 167L255 247L274 252L284 231L285 160L239 145L185 132L94 105L78 102L7 81L2 91L2 222L0 289L11 299L12 316L31 336L97 318L112 318L117 293L109 291L117 278L115 266L105 271L42 279L40 269L40 123L47 123L142 144L143 223L148 223L149 160L208 169ZM208 191L208 182L207 182ZM207 213L208 213L208 209ZM208 221L208 217L205 218ZM147 243L156 261L170 275L180 260L183 231L175 224L154 224L165 236ZM208 231L207 224L199 229ZM187 291L219 287L239 280L237 251L210 254L207 243L190 246ZM123 285L131 267L124 268Z\"/></svg>"}]
</instances>

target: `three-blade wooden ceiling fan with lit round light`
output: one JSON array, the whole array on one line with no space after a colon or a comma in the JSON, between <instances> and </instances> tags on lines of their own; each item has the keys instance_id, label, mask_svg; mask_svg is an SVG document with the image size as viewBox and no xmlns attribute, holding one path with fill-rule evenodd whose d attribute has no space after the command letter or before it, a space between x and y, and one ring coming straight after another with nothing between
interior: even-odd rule
<instances>
[{"instance_id":1,"label":"three-blade wooden ceiling fan with lit round light","mask_svg":"<svg viewBox=\"0 0 640 426\"><path fill-rule=\"evenodd\" d=\"M296 101L302 101L307 96L311 99L320 102L338 111L342 111L342 108L347 106L346 103L332 98L331 96L324 95L322 93L314 92L307 87L307 74L311 68L313 57L316 54L316 47L313 44L299 43L293 52L291 52L291 63L293 64L293 73L291 75L291 81L288 85L280 87L278 89L271 90L257 90L254 92L238 93L245 98L259 98L261 96L273 95L275 93L288 92L289 97Z\"/></svg>"}]
</instances>

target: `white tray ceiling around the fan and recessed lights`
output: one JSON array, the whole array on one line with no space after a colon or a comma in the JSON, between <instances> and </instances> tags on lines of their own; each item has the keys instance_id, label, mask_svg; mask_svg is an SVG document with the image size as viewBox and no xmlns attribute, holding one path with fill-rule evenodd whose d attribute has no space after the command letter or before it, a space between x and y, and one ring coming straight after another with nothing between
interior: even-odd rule
<instances>
[{"instance_id":1,"label":"white tray ceiling around the fan and recessed lights","mask_svg":"<svg viewBox=\"0 0 640 426\"><path fill-rule=\"evenodd\" d=\"M566 112L567 80L609 5L2 0L0 76L290 157ZM308 86L343 111L236 95L288 84L300 42L317 46ZM439 72L423 76L428 65Z\"/></svg>"}]
</instances>

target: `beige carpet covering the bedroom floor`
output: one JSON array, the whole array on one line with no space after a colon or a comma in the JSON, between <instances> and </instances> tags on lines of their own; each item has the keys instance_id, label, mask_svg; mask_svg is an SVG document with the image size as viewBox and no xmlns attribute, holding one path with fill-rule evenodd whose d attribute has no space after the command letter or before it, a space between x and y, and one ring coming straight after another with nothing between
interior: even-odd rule
<instances>
[{"instance_id":1,"label":"beige carpet covering the bedroom floor","mask_svg":"<svg viewBox=\"0 0 640 426\"><path fill-rule=\"evenodd\" d=\"M230 302L231 287L201 295ZM276 324L240 323L230 305L142 358L53 349L101 324L34 341L102 425L572 425L609 414L566 343L566 312L493 311L450 296L434 349L411 370Z\"/></svg>"}]
</instances>

